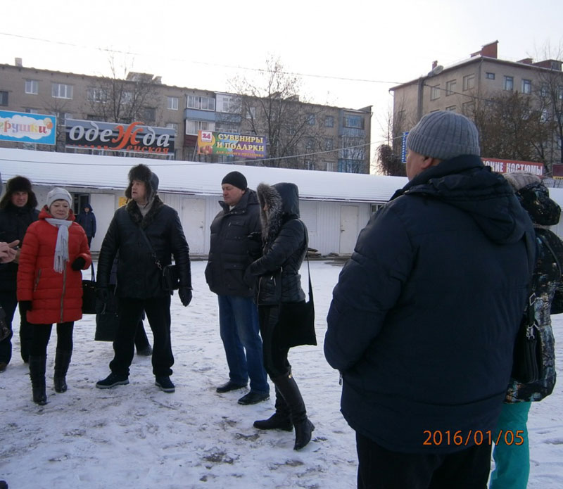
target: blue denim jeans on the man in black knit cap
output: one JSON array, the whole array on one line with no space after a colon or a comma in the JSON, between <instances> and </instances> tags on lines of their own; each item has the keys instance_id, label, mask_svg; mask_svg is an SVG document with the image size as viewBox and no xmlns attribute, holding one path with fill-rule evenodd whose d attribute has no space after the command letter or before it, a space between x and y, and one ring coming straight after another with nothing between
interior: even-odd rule
<instances>
[{"instance_id":1,"label":"blue denim jeans on the man in black knit cap","mask_svg":"<svg viewBox=\"0 0 563 489\"><path fill-rule=\"evenodd\" d=\"M224 353L227 355L229 379L246 386L250 377L251 390L269 393L270 385L262 361L258 310L252 298L238 296L217 296L217 298L219 330Z\"/></svg>"}]
</instances>

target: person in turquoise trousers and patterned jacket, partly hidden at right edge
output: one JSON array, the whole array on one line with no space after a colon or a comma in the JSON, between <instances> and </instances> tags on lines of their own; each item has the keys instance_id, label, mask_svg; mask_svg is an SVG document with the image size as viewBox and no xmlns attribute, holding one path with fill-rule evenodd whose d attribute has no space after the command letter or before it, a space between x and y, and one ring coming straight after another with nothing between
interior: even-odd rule
<instances>
[{"instance_id":1,"label":"person in turquoise trousers and patterned jacket, partly hidden at right edge","mask_svg":"<svg viewBox=\"0 0 563 489\"><path fill-rule=\"evenodd\" d=\"M522 207L528 212L536 231L538 255L533 272L532 292L536 294L535 312L539 334L542 338L543 375L530 383L511 379L500 418L494 433L512 433L521 437L522 443L495 444L493 459L495 469L491 474L490 489L525 489L530 474L530 449L526 423L531 403L552 393L555 386L555 340L551 328L552 314L563 312L562 265L563 243L548 226L559 222L561 209L552 201L540 177L531 173L508 173L505 178L512 185ZM554 298L557 295L557 300ZM510 441L510 438L509 438Z\"/></svg>"}]
</instances>

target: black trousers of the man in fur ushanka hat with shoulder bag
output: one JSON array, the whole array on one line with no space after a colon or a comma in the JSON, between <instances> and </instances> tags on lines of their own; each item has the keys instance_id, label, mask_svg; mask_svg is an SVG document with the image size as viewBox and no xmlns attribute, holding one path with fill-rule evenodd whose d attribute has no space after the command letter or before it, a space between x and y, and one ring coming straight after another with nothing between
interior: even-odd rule
<instances>
[{"instance_id":1,"label":"black trousers of the man in fur ushanka hat with shoulder bag","mask_svg":"<svg viewBox=\"0 0 563 489\"><path fill-rule=\"evenodd\" d=\"M153 331L153 374L172 375L172 343L170 341L170 296L151 299L120 298L118 305L119 326L113 341L115 353L110 362L114 374L129 375L134 356L134 338L137 325L146 312Z\"/></svg>"}]
</instances>

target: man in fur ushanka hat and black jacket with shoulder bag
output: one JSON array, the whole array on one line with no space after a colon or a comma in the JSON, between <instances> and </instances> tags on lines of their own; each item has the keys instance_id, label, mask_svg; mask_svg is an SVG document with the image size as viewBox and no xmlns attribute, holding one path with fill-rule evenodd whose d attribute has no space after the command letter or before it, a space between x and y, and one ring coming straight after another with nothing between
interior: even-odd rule
<instances>
[{"instance_id":1,"label":"man in fur ushanka hat and black jacket with shoulder bag","mask_svg":"<svg viewBox=\"0 0 563 489\"><path fill-rule=\"evenodd\" d=\"M170 380L174 357L170 340L170 295L165 290L162 268L172 254L179 270L182 305L191 302L189 248L178 213L158 196L158 177L146 165L129 170L125 196L131 199L113 215L103 239L98 261L96 290L103 303L110 298L110 272L119 253L116 294L119 326L113 342L111 373L96 383L100 389L129 383L134 355L134 336L143 311L153 330L155 384L167 393L175 391Z\"/></svg>"}]
</instances>

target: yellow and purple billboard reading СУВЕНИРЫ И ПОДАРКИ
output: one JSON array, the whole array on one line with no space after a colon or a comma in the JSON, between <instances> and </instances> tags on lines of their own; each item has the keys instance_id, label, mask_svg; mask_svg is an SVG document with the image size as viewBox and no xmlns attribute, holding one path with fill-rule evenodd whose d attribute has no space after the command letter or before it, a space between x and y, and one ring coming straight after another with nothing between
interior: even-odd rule
<instances>
[{"instance_id":1,"label":"yellow and purple billboard reading \u0421\u0423\u0412\u0415\u041d\u0418\u0420\u042b \u0418 \u041f\u041e\u0414\u0410\u0420\u041a\u0418","mask_svg":"<svg viewBox=\"0 0 563 489\"><path fill-rule=\"evenodd\" d=\"M266 137L199 131L198 155L229 155L247 159L265 158Z\"/></svg>"}]
</instances>

